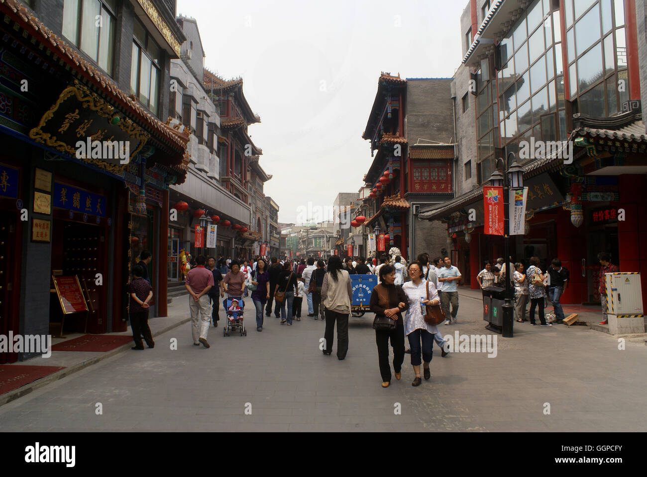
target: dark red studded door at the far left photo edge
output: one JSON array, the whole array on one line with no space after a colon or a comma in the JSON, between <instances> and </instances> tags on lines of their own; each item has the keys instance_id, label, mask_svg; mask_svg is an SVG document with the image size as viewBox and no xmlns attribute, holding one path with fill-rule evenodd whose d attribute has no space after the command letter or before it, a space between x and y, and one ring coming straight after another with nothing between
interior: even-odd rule
<instances>
[{"instance_id":1,"label":"dark red studded door at the far left photo edge","mask_svg":"<svg viewBox=\"0 0 647 477\"><path fill-rule=\"evenodd\" d=\"M19 268L16 255L16 213L0 211L0 334L19 334L19 305L14 290L20 288L14 282L14 273ZM14 297L12 297L14 295ZM0 364L15 363L17 353L0 353Z\"/></svg>"}]
</instances>

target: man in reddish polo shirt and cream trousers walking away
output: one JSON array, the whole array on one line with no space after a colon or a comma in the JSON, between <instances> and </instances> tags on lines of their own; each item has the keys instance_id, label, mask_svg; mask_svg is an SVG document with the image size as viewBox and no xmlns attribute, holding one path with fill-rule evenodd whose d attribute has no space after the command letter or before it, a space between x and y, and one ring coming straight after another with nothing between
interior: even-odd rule
<instances>
[{"instance_id":1,"label":"man in reddish polo shirt and cream trousers walking away","mask_svg":"<svg viewBox=\"0 0 647 477\"><path fill-rule=\"evenodd\" d=\"M189 310L191 312L191 324L193 333L193 345L209 348L206 336L209 332L212 306L208 293L214 286L214 274L204 268L204 256L199 255L195 259L195 267L189 270L186 275L184 286L191 296L189 297Z\"/></svg>"}]
</instances>

